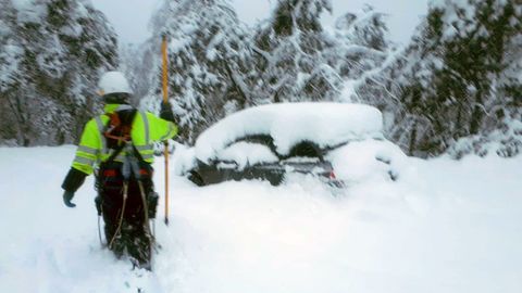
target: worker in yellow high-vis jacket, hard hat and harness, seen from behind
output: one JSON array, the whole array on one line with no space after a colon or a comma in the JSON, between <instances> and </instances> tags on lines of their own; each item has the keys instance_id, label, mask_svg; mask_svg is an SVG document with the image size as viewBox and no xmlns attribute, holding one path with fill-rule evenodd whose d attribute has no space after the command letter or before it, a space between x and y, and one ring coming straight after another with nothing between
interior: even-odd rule
<instances>
[{"instance_id":1,"label":"worker in yellow high-vis jacket, hard hat and harness, seen from behind","mask_svg":"<svg viewBox=\"0 0 522 293\"><path fill-rule=\"evenodd\" d=\"M95 173L98 214L103 216L108 247L120 258L125 249L134 265L150 268L158 194L152 184L153 142L177 133L169 104L160 117L129 105L133 91L120 72L108 72L98 84L104 113L84 129L62 188L69 207L85 178Z\"/></svg>"}]
</instances>

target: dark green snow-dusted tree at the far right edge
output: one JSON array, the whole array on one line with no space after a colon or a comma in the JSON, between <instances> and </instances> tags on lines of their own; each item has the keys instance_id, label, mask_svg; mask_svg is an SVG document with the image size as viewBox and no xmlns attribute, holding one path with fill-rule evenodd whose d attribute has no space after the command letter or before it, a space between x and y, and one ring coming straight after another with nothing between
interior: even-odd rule
<instances>
[{"instance_id":1,"label":"dark green snow-dusted tree at the far right edge","mask_svg":"<svg viewBox=\"0 0 522 293\"><path fill-rule=\"evenodd\" d=\"M520 119L521 20L515 1L433 4L411 44L358 93L395 101L389 137L411 154L436 155L469 136L487 141L505 118ZM521 149L520 137L510 143L508 153Z\"/></svg>"}]
</instances>

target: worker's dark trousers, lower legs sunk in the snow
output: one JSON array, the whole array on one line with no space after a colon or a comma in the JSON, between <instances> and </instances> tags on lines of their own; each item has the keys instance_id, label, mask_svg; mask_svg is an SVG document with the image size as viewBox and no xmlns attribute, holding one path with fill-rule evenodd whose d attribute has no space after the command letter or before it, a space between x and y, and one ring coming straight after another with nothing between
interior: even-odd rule
<instances>
[{"instance_id":1,"label":"worker's dark trousers, lower legs sunk in the snow","mask_svg":"<svg viewBox=\"0 0 522 293\"><path fill-rule=\"evenodd\" d=\"M138 180L135 178L124 180L119 163L100 168L98 190L109 249L116 257L121 257L126 249L127 254L138 266L149 266L152 235L148 230L149 222L146 221L145 211L147 208L149 218L152 218L156 214L158 198L153 192L152 168L145 166L140 173L144 175L140 182L144 186L145 203ZM128 189L124 205L125 183Z\"/></svg>"}]
</instances>

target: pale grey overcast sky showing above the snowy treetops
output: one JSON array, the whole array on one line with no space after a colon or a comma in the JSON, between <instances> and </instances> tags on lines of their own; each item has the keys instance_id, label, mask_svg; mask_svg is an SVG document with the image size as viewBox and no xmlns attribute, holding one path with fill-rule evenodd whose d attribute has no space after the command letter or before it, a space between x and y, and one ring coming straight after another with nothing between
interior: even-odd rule
<instances>
[{"instance_id":1,"label":"pale grey overcast sky showing above the snowy treetops","mask_svg":"<svg viewBox=\"0 0 522 293\"><path fill-rule=\"evenodd\" d=\"M148 23L152 12L164 0L91 0L114 26L122 42L139 43L149 36ZM430 0L332 0L333 15L324 15L324 25L333 25L334 20L346 12L358 12L364 3L377 11L389 14L388 27L391 38L406 43L427 11ZM253 24L266 18L277 0L232 0L239 18Z\"/></svg>"}]
</instances>

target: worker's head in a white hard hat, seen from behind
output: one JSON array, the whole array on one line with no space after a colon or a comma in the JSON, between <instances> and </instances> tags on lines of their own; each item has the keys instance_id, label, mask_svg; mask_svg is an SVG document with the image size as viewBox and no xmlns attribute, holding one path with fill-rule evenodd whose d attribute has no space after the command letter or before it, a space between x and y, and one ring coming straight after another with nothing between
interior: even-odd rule
<instances>
[{"instance_id":1,"label":"worker's head in a white hard hat, seen from behind","mask_svg":"<svg viewBox=\"0 0 522 293\"><path fill-rule=\"evenodd\" d=\"M133 90L121 72L107 72L98 82L98 93L105 104L129 104Z\"/></svg>"}]
</instances>

